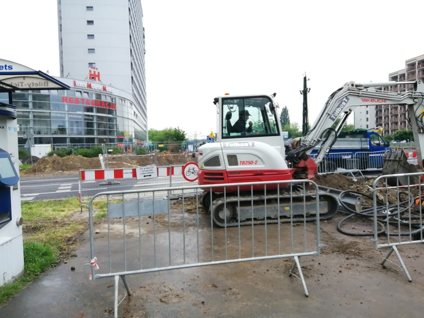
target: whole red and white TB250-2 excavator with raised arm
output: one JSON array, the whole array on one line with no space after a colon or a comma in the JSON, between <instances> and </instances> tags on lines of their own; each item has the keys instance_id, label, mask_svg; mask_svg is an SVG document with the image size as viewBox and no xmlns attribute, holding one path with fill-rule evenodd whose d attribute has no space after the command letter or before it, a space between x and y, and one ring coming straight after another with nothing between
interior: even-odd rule
<instances>
[{"instance_id":1,"label":"whole red and white TB250-2 excavator with raised arm","mask_svg":"<svg viewBox=\"0 0 424 318\"><path fill-rule=\"evenodd\" d=\"M387 88L398 84L411 86L405 92L392 92ZM422 163L422 146L424 147L424 83L384 82L364 83L348 82L334 91L326 101L317 119L302 143L296 149L287 151L282 137L281 125L277 113L278 103L272 95L225 95L214 99L218 113L217 141L207 143L199 148L199 185L219 185L232 183L250 183L259 181L314 180L318 165L325 159L335 142L338 133L351 112L361 106L400 105L411 122L417 149L418 162ZM340 118L336 128L331 128ZM309 154L319 144L318 154L312 160ZM422 168L422 166L421 166ZM392 152L385 156L383 174L416 172L409 165L405 154ZM287 184L286 184L287 185ZM281 185L280 185L281 187ZM299 220L315 220L316 215L304 215L304 198L315 204L315 191L309 194L307 189L279 190L271 185L266 187L267 222L284 222L289 215ZM279 188L280 189L280 188ZM220 226L263 223L264 215L260 209L252 209L251 186L223 186L205 189L202 194L204 209L212 213L213 221ZM263 206L265 197L263 186L254 186L254 205ZM243 193L247 191L247 193ZM225 192L225 194L224 194ZM338 208L337 198L320 192L319 218L331 218ZM291 204L292 214L279 214ZM299 200L297 200L299 198ZM287 200L287 202L285 202ZM285 206L286 205L286 206ZM296 209L299 205L299 209ZM283 209L281 209L283 208ZM286 209L284 209L286 208ZM252 215L252 210L254 211ZM299 210L299 212L298 212ZM256 212L257 211L257 212ZM314 209L311 209L314 211ZM258 213L255 215L255 213ZM299 215L297 215L299 213Z\"/></svg>"}]
</instances>

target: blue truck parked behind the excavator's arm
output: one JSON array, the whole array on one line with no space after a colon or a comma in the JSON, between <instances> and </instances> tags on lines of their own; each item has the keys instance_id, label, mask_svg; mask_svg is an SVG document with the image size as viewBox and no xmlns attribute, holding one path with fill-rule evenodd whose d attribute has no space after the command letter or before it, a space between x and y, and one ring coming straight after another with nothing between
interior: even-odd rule
<instances>
[{"instance_id":1,"label":"blue truck parked behind the excavator's arm","mask_svg":"<svg viewBox=\"0 0 424 318\"><path fill-rule=\"evenodd\" d=\"M312 158L319 146L311 152ZM357 129L340 132L325 160L320 163L318 172L382 169L386 150L390 150L389 142L378 131Z\"/></svg>"}]
</instances>

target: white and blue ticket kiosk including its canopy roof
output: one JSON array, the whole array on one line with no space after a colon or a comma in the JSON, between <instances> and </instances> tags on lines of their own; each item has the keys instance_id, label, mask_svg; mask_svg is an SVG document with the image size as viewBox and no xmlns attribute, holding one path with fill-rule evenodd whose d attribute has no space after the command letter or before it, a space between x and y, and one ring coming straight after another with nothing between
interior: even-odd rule
<instances>
[{"instance_id":1,"label":"white and blue ticket kiosk including its canopy roof","mask_svg":"<svg viewBox=\"0 0 424 318\"><path fill-rule=\"evenodd\" d=\"M24 65L0 59L0 287L23 272L22 214L20 209L18 127L13 92L69 90L54 77Z\"/></svg>"}]
</instances>

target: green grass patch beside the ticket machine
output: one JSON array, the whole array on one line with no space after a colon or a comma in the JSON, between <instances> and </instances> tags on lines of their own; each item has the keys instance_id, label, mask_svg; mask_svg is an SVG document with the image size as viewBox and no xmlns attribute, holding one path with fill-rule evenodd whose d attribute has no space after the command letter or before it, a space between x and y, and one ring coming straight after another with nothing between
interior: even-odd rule
<instances>
[{"instance_id":1,"label":"green grass patch beside the ticket machine","mask_svg":"<svg viewBox=\"0 0 424 318\"><path fill-rule=\"evenodd\" d=\"M106 202L93 203L95 219L107 215ZM41 273L66 259L78 238L89 228L87 209L78 198L21 202L24 270L12 283L0 287L0 307Z\"/></svg>"}]
</instances>

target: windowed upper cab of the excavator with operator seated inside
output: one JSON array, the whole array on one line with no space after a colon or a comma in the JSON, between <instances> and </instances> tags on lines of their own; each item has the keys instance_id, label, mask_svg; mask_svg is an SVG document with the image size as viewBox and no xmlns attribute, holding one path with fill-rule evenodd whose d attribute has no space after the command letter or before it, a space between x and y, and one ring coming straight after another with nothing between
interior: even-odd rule
<instances>
[{"instance_id":1,"label":"windowed upper cab of the excavator with operator seated inside","mask_svg":"<svg viewBox=\"0 0 424 318\"><path fill-rule=\"evenodd\" d=\"M280 135L275 107L267 96L222 98L222 138Z\"/></svg>"}]
</instances>

